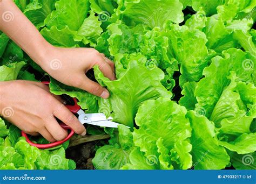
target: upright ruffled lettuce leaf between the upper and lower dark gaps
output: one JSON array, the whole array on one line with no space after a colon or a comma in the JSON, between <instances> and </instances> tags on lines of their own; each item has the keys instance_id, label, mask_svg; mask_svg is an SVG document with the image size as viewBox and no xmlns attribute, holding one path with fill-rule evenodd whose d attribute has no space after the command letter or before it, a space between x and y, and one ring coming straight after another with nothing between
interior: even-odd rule
<instances>
[{"instance_id":1,"label":"upright ruffled lettuce leaf between the upper and lower dark gaps","mask_svg":"<svg viewBox=\"0 0 256 184\"><path fill-rule=\"evenodd\" d=\"M206 36L199 30L189 30L187 26L172 25L170 45L174 58L181 62L179 84L198 81L210 59L206 47Z\"/></svg>"}]
</instances>

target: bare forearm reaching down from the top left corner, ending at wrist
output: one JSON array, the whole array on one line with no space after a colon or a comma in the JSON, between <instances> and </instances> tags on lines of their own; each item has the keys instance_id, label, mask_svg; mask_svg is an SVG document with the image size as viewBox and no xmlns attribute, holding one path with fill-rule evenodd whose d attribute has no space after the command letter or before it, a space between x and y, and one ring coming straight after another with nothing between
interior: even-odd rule
<instances>
[{"instance_id":1,"label":"bare forearm reaching down from the top left corner, ending at wrist","mask_svg":"<svg viewBox=\"0 0 256 184\"><path fill-rule=\"evenodd\" d=\"M21 47L33 61L42 65L43 56L51 45L12 0L0 1L0 30Z\"/></svg>"}]
</instances>

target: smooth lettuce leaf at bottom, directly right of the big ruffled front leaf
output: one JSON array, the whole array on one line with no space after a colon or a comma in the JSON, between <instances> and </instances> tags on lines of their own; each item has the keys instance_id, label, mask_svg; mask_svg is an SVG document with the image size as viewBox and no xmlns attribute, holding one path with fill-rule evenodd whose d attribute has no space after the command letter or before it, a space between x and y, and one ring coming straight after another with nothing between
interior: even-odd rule
<instances>
[{"instance_id":1,"label":"smooth lettuce leaf at bottom, directly right of the big ruffled front leaf","mask_svg":"<svg viewBox=\"0 0 256 184\"><path fill-rule=\"evenodd\" d=\"M192 136L191 155L194 169L223 169L230 162L224 147L219 146L214 132L214 124L205 116L200 116L195 111L189 111ZM201 131L204 130L204 131Z\"/></svg>"}]
</instances>

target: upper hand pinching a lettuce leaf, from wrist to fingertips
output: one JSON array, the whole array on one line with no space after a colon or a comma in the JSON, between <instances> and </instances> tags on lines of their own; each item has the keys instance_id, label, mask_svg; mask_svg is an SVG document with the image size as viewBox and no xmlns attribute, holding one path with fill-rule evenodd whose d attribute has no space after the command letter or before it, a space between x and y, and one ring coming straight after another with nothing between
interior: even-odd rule
<instances>
[{"instance_id":1,"label":"upper hand pinching a lettuce leaf, from wrist to fingertips","mask_svg":"<svg viewBox=\"0 0 256 184\"><path fill-rule=\"evenodd\" d=\"M68 86L84 89L102 98L109 97L109 91L90 80L85 73L98 65L105 77L115 80L114 63L94 48L60 48L48 46L47 54L36 62L53 78Z\"/></svg>"}]
</instances>

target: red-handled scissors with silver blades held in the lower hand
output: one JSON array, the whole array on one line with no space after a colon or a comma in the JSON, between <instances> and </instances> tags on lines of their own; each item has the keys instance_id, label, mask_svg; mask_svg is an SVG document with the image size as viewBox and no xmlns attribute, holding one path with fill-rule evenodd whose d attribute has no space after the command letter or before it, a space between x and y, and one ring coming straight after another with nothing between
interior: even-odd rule
<instances>
[{"instance_id":1,"label":"red-handled scissors with silver blades held in the lower hand","mask_svg":"<svg viewBox=\"0 0 256 184\"><path fill-rule=\"evenodd\" d=\"M49 85L50 82L42 82L42 83ZM65 105L65 107L68 108L73 114L78 114L78 120L81 124L86 123L86 124L90 124L90 125L105 126L105 127L110 127L110 128L117 128L117 126L120 125L119 123L110 121L112 119L112 117L106 118L106 116L103 113L85 114L85 112L77 104L76 98L73 98L73 102L75 103L74 105ZM63 144L65 141L69 140L75 133L70 128L70 126L64 124L63 122L59 123L59 125L65 130L70 130L70 133L65 139L56 141L54 143L49 143L49 144L33 143L24 131L22 131L22 136L26 138L26 141L31 146L36 146L40 149L56 147L60 144Z\"/></svg>"}]
</instances>

